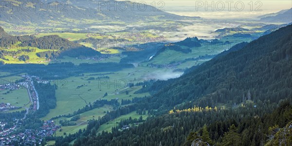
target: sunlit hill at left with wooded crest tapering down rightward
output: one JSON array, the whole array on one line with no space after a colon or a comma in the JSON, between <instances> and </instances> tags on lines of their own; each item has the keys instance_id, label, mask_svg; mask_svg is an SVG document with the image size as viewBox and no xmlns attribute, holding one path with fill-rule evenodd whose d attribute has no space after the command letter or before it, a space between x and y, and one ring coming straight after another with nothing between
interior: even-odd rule
<instances>
[{"instance_id":1,"label":"sunlit hill at left with wooded crest tapering down rightward","mask_svg":"<svg viewBox=\"0 0 292 146\"><path fill-rule=\"evenodd\" d=\"M71 57L96 56L101 53L57 35L35 37L11 36L0 27L0 60L5 63L24 63L32 58L54 59L64 55ZM42 61L43 61L42 60Z\"/></svg>"}]
</instances>

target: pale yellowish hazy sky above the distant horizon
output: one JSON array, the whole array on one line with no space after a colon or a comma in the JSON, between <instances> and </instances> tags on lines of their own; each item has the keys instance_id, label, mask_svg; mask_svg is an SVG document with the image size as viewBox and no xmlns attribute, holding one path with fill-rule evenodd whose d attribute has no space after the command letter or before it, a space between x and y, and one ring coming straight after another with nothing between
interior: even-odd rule
<instances>
[{"instance_id":1,"label":"pale yellowish hazy sky above the distant horizon","mask_svg":"<svg viewBox=\"0 0 292 146\"><path fill-rule=\"evenodd\" d=\"M202 18L256 18L292 8L292 0L131 0L145 2L166 12ZM205 3L207 1L207 3ZM205 7L206 4L212 5ZM236 6L237 4L237 6ZM200 6L199 6L200 5ZM224 7L223 7L224 5ZM251 7L252 6L252 7ZM207 11L206 11L207 9ZM252 10L252 11L251 11Z\"/></svg>"}]
</instances>

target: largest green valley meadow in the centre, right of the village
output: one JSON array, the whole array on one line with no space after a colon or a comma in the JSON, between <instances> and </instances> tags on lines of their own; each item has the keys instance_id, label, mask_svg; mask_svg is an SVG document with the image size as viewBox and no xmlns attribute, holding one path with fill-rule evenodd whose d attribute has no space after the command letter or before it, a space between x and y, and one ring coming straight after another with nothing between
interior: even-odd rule
<instances>
[{"instance_id":1,"label":"largest green valley meadow in the centre, right of the village","mask_svg":"<svg viewBox=\"0 0 292 146\"><path fill-rule=\"evenodd\" d=\"M66 84L62 89L56 90L57 106L55 109L50 110L46 118L50 119L58 115L73 113L73 111L81 109L98 99L110 100L118 98L119 102L121 102L121 99L148 96L149 93L134 94L141 87L126 88L125 84L130 83L130 80L134 80L135 78L136 80L132 81L134 84L143 82L144 79L149 79L150 77L163 78L164 74L161 73L167 72L171 72L171 70L136 67L134 69L125 69L114 74L105 74L110 79L88 80L89 77L97 78L103 76L98 75L99 73L84 73L84 76L66 78ZM77 86L80 85L83 85L83 87L77 89ZM128 94L126 94L126 91L128 91ZM108 96L103 97L106 92Z\"/></svg>"}]
</instances>

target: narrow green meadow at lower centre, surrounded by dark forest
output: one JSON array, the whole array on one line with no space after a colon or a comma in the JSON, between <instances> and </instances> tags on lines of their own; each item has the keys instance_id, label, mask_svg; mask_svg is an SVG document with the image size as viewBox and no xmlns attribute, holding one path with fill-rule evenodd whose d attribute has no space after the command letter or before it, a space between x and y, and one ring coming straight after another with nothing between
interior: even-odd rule
<instances>
[{"instance_id":1,"label":"narrow green meadow at lower centre, surrounded by dark forest","mask_svg":"<svg viewBox=\"0 0 292 146\"><path fill-rule=\"evenodd\" d=\"M136 113L136 111L132 111L128 114L119 116L116 119L114 119L106 124L101 125L100 128L97 129L97 132L102 132L102 131L111 132L111 128L118 126L118 124L120 123L120 121L122 119L128 119L129 117L131 117L132 119L138 119L140 116L142 116L143 119L146 119L148 117L147 114L146 115L139 115Z\"/></svg>"}]
</instances>

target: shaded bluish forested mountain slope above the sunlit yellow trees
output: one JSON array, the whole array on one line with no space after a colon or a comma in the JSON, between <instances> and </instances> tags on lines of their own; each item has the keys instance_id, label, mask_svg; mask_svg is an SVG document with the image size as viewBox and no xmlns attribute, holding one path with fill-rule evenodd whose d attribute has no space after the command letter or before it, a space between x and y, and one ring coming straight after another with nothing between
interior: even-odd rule
<instances>
[{"instance_id":1,"label":"shaded bluish forested mountain slope above the sunlit yellow trees","mask_svg":"<svg viewBox=\"0 0 292 146\"><path fill-rule=\"evenodd\" d=\"M173 107L204 97L199 106L252 99L277 102L292 96L292 25L260 37L235 52L203 63L151 98L151 107ZM204 100L205 99L205 100Z\"/></svg>"}]
</instances>

